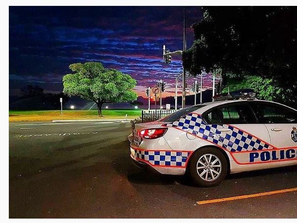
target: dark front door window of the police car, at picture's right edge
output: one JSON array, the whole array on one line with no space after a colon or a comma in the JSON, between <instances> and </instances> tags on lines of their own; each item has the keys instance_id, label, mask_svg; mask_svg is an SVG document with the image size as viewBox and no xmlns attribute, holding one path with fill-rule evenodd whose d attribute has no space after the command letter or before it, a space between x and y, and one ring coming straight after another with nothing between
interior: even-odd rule
<instances>
[{"instance_id":1,"label":"dark front door window of the police car, at picture's right edge","mask_svg":"<svg viewBox=\"0 0 297 223\"><path fill-rule=\"evenodd\" d=\"M297 122L297 112L282 105L274 103L253 103L253 109L260 123L281 124Z\"/></svg>"}]
</instances>

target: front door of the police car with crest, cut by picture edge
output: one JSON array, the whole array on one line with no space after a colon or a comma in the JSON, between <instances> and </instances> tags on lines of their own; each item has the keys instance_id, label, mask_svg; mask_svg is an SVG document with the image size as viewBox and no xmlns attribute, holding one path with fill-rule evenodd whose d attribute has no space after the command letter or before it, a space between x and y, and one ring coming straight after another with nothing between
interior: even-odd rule
<instances>
[{"instance_id":1,"label":"front door of the police car with crest, cut by picture edge","mask_svg":"<svg viewBox=\"0 0 297 223\"><path fill-rule=\"evenodd\" d=\"M259 123L265 124L272 145L271 162L297 161L297 111L272 102L252 102Z\"/></svg>"}]
</instances>

